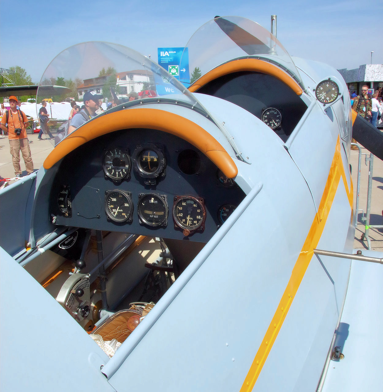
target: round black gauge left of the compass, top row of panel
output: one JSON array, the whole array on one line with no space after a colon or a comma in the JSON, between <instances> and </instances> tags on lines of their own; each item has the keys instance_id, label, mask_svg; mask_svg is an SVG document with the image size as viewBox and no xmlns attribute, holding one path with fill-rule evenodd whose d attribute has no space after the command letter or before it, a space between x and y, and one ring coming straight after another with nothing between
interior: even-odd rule
<instances>
[{"instance_id":1,"label":"round black gauge left of the compass, top row of panel","mask_svg":"<svg viewBox=\"0 0 383 392\"><path fill-rule=\"evenodd\" d=\"M129 177L130 158L126 150L120 147L108 149L103 158L105 174L112 180L122 180Z\"/></svg>"}]
</instances>

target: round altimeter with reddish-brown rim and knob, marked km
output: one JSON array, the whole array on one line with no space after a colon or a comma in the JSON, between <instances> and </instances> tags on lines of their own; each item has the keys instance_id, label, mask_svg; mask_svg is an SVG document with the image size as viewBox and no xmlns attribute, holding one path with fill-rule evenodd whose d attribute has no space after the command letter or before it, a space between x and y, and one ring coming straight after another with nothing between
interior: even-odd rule
<instances>
[{"instance_id":1,"label":"round altimeter with reddish-brown rim and knob, marked km","mask_svg":"<svg viewBox=\"0 0 383 392\"><path fill-rule=\"evenodd\" d=\"M182 229L184 236L205 229L206 209L202 198L175 196L173 204L174 228Z\"/></svg>"}]
</instances>

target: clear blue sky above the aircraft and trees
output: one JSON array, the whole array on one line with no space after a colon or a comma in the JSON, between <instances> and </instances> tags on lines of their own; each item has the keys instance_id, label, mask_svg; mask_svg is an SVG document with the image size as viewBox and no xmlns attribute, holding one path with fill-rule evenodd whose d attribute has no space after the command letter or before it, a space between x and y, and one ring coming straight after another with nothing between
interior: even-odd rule
<instances>
[{"instance_id":1,"label":"clear blue sky above the aircraft and trees","mask_svg":"<svg viewBox=\"0 0 383 392\"><path fill-rule=\"evenodd\" d=\"M16 5L16 3L15 3ZM244 16L267 30L277 15L277 37L291 56L340 68L383 64L383 1L213 0L193 2L19 0L0 15L0 67L19 65L40 78L51 60L79 42L125 45L157 60L157 47L181 47L215 15ZM7 12L5 12L5 9Z\"/></svg>"}]
</instances>

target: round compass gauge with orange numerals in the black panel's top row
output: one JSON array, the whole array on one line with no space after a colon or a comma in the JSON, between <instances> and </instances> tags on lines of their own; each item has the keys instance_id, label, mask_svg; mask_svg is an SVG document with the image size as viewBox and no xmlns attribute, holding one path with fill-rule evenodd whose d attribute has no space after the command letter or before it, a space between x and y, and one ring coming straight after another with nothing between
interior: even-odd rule
<instances>
[{"instance_id":1,"label":"round compass gauge with orange numerals in the black panel's top row","mask_svg":"<svg viewBox=\"0 0 383 392\"><path fill-rule=\"evenodd\" d=\"M133 169L145 184L156 184L165 176L164 153L158 146L147 143L138 145L132 155Z\"/></svg>"}]
</instances>

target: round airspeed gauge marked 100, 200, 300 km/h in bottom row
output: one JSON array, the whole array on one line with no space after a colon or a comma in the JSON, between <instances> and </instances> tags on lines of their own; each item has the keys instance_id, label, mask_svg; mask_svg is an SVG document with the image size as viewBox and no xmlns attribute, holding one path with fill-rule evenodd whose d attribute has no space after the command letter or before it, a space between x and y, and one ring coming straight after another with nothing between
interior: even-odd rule
<instances>
[{"instance_id":1,"label":"round airspeed gauge marked 100, 200, 300 km/h in bottom row","mask_svg":"<svg viewBox=\"0 0 383 392\"><path fill-rule=\"evenodd\" d=\"M130 220L133 212L133 203L129 192L106 191L105 212L114 222Z\"/></svg>"}]
</instances>

